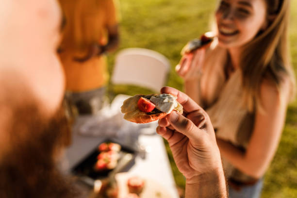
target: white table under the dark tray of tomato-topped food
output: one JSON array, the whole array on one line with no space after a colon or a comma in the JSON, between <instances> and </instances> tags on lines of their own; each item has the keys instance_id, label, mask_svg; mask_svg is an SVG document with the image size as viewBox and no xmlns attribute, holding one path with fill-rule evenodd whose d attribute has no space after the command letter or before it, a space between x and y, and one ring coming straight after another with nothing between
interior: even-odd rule
<instances>
[{"instance_id":1,"label":"white table under the dark tray of tomato-topped food","mask_svg":"<svg viewBox=\"0 0 297 198\"><path fill-rule=\"evenodd\" d=\"M113 101L111 107L105 109L103 111L103 114L109 114L110 117L115 116L115 112L119 110L122 101L126 98L127 96L123 95L117 96L116 99ZM88 119L83 118L83 120L86 121ZM111 123L116 125L115 122ZM106 123L108 123L108 121L103 121L101 125L104 125ZM135 134L137 134L138 144L145 147L147 151L145 159L141 158L139 155L136 156L135 164L129 169L129 173L139 175L144 178L149 178L153 181L161 183L171 194L171 198L179 198L165 150L163 138L155 133L157 123L155 122L147 125L135 125L134 123L130 123L127 121L123 121L123 123L123 127L120 127L118 129L118 132L111 133L111 135L109 135L109 138L115 138L116 141L122 141L124 142L124 144L131 144L129 143L130 138L127 138L129 134L125 133L125 128L127 132L129 131L129 127L131 126L130 129L138 130L136 133L132 132L132 134L130 134L131 137L135 139ZM81 135L79 129L80 127L77 125L75 125L73 128L72 145L66 149L66 160L63 163L64 171L69 171L74 165L79 163L90 151L96 148L100 142L106 139L106 134L99 136ZM145 132L144 134L139 134L139 131ZM130 140L134 141L133 138Z\"/></svg>"}]
</instances>

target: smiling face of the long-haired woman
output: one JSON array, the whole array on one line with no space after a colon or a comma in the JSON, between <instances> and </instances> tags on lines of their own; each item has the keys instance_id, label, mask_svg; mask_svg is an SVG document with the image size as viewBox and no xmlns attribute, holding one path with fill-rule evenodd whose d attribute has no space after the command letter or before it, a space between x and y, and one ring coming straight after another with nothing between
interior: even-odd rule
<instances>
[{"instance_id":1,"label":"smiling face of the long-haired woman","mask_svg":"<svg viewBox=\"0 0 297 198\"><path fill-rule=\"evenodd\" d=\"M222 0L216 11L220 45L240 47L250 41L259 30L267 27L266 4L263 0Z\"/></svg>"}]
</instances>

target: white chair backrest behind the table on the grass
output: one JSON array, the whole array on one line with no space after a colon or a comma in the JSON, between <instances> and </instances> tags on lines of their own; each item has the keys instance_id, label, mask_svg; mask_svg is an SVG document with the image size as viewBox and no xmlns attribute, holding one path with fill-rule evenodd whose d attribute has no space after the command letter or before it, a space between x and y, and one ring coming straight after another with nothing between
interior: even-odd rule
<instances>
[{"instance_id":1,"label":"white chair backrest behind the table on the grass","mask_svg":"<svg viewBox=\"0 0 297 198\"><path fill-rule=\"evenodd\" d=\"M142 49L123 49L115 57L113 84L131 84L159 92L165 85L170 69L168 59L159 52Z\"/></svg>"}]
</instances>

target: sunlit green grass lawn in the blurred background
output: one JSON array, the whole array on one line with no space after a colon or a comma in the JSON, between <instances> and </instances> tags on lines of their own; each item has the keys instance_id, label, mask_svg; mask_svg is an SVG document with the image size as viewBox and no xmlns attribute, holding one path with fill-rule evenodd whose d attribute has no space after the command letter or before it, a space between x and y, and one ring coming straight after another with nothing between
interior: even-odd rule
<instances>
[{"instance_id":1,"label":"sunlit green grass lawn in the blurred background","mask_svg":"<svg viewBox=\"0 0 297 198\"><path fill-rule=\"evenodd\" d=\"M297 1L292 0L290 41L292 62L297 71ZM184 44L209 30L216 0L120 0L120 49L139 47L164 54L171 63L168 86L182 90L182 80L174 71ZM295 24L295 25L293 25ZM109 57L112 72L114 56ZM134 86L110 86L110 97L115 94L148 94L150 90ZM265 175L262 198L297 197L297 101L288 109L281 143ZM175 181L184 186L184 178L175 166L170 149L168 156Z\"/></svg>"}]
</instances>

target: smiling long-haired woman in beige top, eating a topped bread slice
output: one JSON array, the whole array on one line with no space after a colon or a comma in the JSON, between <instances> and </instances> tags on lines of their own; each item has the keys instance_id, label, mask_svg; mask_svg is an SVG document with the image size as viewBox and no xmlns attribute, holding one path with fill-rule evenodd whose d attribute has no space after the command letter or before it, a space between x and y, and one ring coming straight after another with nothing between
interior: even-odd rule
<instances>
[{"instance_id":1,"label":"smiling long-haired woman in beige top, eating a topped bread slice","mask_svg":"<svg viewBox=\"0 0 297 198\"><path fill-rule=\"evenodd\" d=\"M262 177L294 96L287 48L289 2L220 0L215 12L217 39L209 49L188 57L188 69L177 69L186 93L212 120L230 198L260 196Z\"/></svg>"}]
</instances>

